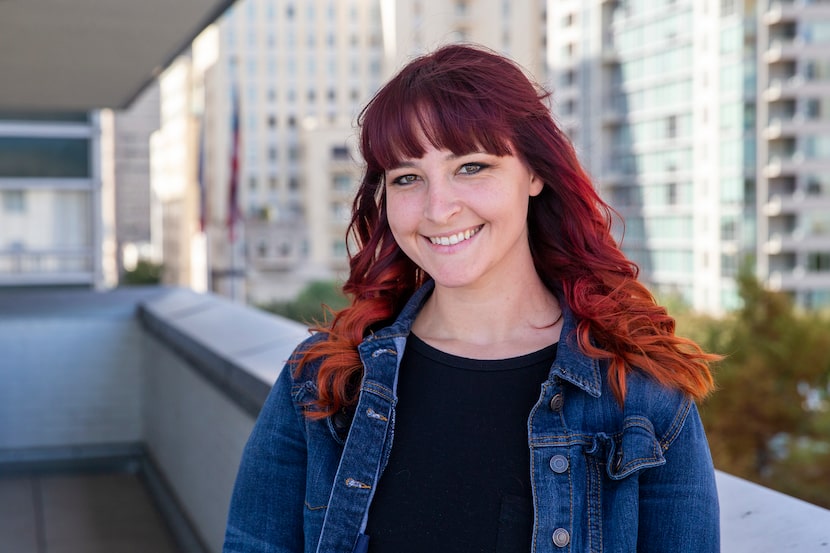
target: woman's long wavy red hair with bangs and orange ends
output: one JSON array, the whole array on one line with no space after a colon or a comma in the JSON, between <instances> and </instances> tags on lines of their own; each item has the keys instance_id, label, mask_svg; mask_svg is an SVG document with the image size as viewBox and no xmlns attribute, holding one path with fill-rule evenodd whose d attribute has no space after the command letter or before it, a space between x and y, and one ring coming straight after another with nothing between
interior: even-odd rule
<instances>
[{"instance_id":1,"label":"woman's long wavy red hair with bangs and orange ends","mask_svg":"<svg viewBox=\"0 0 830 553\"><path fill-rule=\"evenodd\" d=\"M638 282L636 265L611 235L613 211L551 117L548 96L504 57L450 45L412 61L363 110L358 122L366 167L352 208L350 274L343 287L352 303L317 329L327 338L300 359L300 367L322 360L310 416L328 416L357 401L363 372L358 344L394 321L429 277L395 243L384 194L387 168L423 156L421 136L455 154L514 154L545 183L528 212L536 271L576 316L580 349L608 361L620 403L630 370L694 398L711 391L709 363L719 356L676 336L674 319Z\"/></svg>"}]
</instances>

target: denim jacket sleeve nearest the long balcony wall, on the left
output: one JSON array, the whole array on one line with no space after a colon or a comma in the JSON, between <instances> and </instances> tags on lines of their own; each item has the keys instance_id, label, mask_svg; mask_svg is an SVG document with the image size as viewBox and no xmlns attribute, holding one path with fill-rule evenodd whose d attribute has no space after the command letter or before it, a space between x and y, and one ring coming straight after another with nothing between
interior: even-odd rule
<instances>
[{"instance_id":1,"label":"denim jacket sleeve nearest the long balcony wall, on the left","mask_svg":"<svg viewBox=\"0 0 830 553\"><path fill-rule=\"evenodd\" d=\"M303 551L306 436L283 368L242 455L231 497L224 553Z\"/></svg>"}]
</instances>

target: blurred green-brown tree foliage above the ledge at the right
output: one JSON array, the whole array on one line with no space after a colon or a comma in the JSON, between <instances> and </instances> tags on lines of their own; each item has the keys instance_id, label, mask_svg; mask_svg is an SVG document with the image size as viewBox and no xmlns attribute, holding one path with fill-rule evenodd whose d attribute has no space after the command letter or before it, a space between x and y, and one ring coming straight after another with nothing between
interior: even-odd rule
<instances>
[{"instance_id":1,"label":"blurred green-brown tree foliage above the ledge at the right","mask_svg":"<svg viewBox=\"0 0 830 553\"><path fill-rule=\"evenodd\" d=\"M726 355L701 406L715 466L830 507L830 321L739 276L743 307L678 333Z\"/></svg>"}]
</instances>

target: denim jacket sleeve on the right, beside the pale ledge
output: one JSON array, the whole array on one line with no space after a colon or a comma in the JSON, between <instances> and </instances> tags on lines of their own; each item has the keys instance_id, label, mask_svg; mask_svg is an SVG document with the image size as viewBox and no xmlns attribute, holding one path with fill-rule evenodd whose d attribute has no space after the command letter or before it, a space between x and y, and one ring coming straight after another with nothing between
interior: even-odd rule
<instances>
[{"instance_id":1,"label":"denim jacket sleeve on the right, beside the pale ledge","mask_svg":"<svg viewBox=\"0 0 830 553\"><path fill-rule=\"evenodd\" d=\"M709 444L694 403L664 452L640 480L639 553L720 551L720 513Z\"/></svg>"}]
</instances>

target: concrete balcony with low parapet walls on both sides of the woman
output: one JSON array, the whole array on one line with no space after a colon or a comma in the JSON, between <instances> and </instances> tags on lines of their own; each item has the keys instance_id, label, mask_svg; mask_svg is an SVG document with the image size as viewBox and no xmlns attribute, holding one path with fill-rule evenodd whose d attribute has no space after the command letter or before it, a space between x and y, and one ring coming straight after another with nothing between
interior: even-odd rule
<instances>
[{"instance_id":1,"label":"concrete balcony with low parapet walls on both sides of the woman","mask_svg":"<svg viewBox=\"0 0 830 553\"><path fill-rule=\"evenodd\" d=\"M28 467L49 486L63 482L51 496L62 498L47 521L53 535L83 520L78 539L104 535L112 553L141 543L218 553L243 445L306 330L165 288L4 293L0 313L0 474ZM718 487L724 551L824 550L830 511L723 473ZM0 487L2 499L20 502L20 518L30 496L9 489ZM85 517L90 496L114 497L109 513ZM136 534L154 516L148 505L169 535L158 522ZM132 549L112 545L119 530ZM156 541L142 542L148 535ZM0 524L0 550L20 536Z\"/></svg>"}]
</instances>

